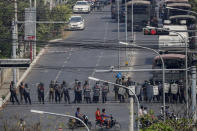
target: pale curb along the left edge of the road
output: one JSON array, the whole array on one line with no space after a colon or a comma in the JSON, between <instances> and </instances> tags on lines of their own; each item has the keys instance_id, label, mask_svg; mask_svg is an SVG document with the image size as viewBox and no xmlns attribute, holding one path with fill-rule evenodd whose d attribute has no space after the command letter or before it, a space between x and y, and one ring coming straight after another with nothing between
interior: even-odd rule
<instances>
[{"instance_id":1,"label":"pale curb along the left edge of the road","mask_svg":"<svg viewBox=\"0 0 197 131\"><path fill-rule=\"evenodd\" d=\"M57 42L60 41L62 39L55 39L55 40L50 40L49 42ZM46 45L40 52L39 54L36 56L36 58L33 60L33 62L31 63L30 67L23 73L23 75L21 76L21 78L19 79L19 81L16 84L16 88L19 86L19 84L25 79L25 77L29 74L29 72L31 71L32 67L36 64L36 62L40 59L40 57L44 54L45 50L48 48L48 45ZM3 107L3 105L9 100L10 98L10 92L6 95L5 99L2 100L0 99L0 110Z\"/></svg>"}]
</instances>

